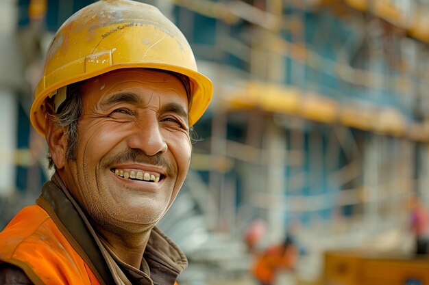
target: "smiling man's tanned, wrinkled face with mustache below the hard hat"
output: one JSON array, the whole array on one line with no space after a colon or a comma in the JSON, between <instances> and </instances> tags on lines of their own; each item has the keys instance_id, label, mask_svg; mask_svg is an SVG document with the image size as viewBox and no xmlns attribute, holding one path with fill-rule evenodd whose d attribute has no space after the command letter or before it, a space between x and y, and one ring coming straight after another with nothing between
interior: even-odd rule
<instances>
[{"instance_id":1,"label":"smiling man's tanned, wrinkled face with mustache below the hard hat","mask_svg":"<svg viewBox=\"0 0 429 285\"><path fill-rule=\"evenodd\" d=\"M97 226L138 232L164 215L191 160L188 99L179 79L115 70L83 86L75 161L60 171Z\"/></svg>"}]
</instances>

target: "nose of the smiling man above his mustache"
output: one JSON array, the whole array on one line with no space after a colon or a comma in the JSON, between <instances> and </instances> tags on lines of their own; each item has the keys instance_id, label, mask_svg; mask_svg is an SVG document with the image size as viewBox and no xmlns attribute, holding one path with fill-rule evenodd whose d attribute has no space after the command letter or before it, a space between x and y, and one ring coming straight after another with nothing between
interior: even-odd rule
<instances>
[{"instance_id":1,"label":"nose of the smiling man above his mustache","mask_svg":"<svg viewBox=\"0 0 429 285\"><path fill-rule=\"evenodd\" d=\"M128 146L142 150L147 156L167 152L167 143L162 137L158 120L147 118L144 122L136 124L134 132L128 139Z\"/></svg>"}]
</instances>

